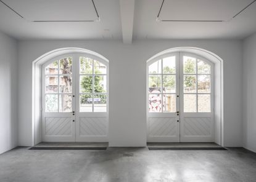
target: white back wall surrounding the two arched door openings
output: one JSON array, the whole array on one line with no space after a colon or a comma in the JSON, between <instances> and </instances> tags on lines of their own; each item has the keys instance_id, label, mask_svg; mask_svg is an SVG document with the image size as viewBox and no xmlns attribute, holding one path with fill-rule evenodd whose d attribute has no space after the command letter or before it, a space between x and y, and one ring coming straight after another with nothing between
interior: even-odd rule
<instances>
[{"instance_id":1,"label":"white back wall surrounding the two arched door openings","mask_svg":"<svg viewBox=\"0 0 256 182\"><path fill-rule=\"evenodd\" d=\"M241 41L20 41L19 144L31 146L32 61L53 49L81 47L100 53L110 63L110 146L146 145L146 61L173 47L200 47L224 60L224 145L242 145ZM125 95L125 97L123 97Z\"/></svg>"}]
</instances>

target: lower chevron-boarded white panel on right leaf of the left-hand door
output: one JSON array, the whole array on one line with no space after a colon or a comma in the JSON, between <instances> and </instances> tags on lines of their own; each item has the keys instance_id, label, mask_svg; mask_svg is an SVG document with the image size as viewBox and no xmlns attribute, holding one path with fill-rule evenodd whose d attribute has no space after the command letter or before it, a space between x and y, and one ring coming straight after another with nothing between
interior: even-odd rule
<instances>
[{"instance_id":1,"label":"lower chevron-boarded white panel on right leaf of the left-hand door","mask_svg":"<svg viewBox=\"0 0 256 182\"><path fill-rule=\"evenodd\" d=\"M80 117L79 136L106 136L107 117Z\"/></svg>"}]
</instances>

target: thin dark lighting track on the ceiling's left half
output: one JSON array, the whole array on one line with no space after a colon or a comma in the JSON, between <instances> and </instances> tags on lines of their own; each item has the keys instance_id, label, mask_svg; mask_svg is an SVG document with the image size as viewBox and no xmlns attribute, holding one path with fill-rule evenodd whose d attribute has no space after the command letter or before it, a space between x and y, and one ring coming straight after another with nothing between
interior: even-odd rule
<instances>
[{"instance_id":1,"label":"thin dark lighting track on the ceiling's left half","mask_svg":"<svg viewBox=\"0 0 256 182\"><path fill-rule=\"evenodd\" d=\"M0 2L2 2L2 4L4 4L4 6L6 6L8 9L12 10L12 12L14 12L16 15L18 15L20 18L23 18L27 22L43 23L43 22L100 22L101 21L101 18L99 17L99 14L97 12L96 6L94 4L94 0L91 0L91 2L93 3L93 7L94 7L94 10L95 10L96 15L97 15L97 19L96 20L27 20L25 17L20 15L15 9L13 9L10 6L8 6L4 1L0 0Z\"/></svg>"}]
</instances>

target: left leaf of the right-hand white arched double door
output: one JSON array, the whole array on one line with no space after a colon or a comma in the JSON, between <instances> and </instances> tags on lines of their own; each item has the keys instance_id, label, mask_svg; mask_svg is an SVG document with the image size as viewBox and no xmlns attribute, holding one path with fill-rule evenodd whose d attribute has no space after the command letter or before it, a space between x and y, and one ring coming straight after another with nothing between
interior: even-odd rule
<instances>
[{"instance_id":1,"label":"left leaf of the right-hand white arched double door","mask_svg":"<svg viewBox=\"0 0 256 182\"><path fill-rule=\"evenodd\" d=\"M147 68L147 141L179 142L178 53L160 57Z\"/></svg>"}]
</instances>

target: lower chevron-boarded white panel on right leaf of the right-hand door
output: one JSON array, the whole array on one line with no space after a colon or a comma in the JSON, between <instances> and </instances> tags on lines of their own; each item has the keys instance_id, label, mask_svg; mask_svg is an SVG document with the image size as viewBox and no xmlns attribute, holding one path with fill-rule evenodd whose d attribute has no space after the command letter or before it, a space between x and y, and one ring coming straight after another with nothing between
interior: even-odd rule
<instances>
[{"instance_id":1,"label":"lower chevron-boarded white panel on right leaf of the right-hand door","mask_svg":"<svg viewBox=\"0 0 256 182\"><path fill-rule=\"evenodd\" d=\"M212 136L211 117L184 117L184 136Z\"/></svg>"}]
</instances>

